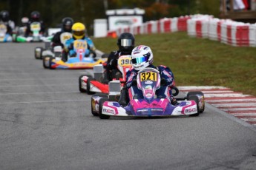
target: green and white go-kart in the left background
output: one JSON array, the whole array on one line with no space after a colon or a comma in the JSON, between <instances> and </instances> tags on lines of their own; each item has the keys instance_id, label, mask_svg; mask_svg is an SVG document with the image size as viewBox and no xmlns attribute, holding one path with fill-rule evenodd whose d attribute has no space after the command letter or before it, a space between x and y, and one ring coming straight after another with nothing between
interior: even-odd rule
<instances>
[{"instance_id":1,"label":"green and white go-kart in the left background","mask_svg":"<svg viewBox=\"0 0 256 170\"><path fill-rule=\"evenodd\" d=\"M42 41L47 42L47 41L51 41L51 39L53 38L53 35L45 37L44 35L39 33L41 30L40 22L32 22L30 24L30 30L32 32L32 35L29 35L27 37L23 35L18 35L16 38L16 41L17 42L42 42Z\"/></svg>"}]
</instances>

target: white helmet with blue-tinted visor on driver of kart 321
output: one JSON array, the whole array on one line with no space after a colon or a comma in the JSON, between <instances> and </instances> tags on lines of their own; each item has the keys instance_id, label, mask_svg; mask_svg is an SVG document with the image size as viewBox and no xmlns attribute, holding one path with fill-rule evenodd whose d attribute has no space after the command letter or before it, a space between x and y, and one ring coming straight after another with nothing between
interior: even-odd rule
<instances>
[{"instance_id":1,"label":"white helmet with blue-tinted visor on driver of kart 321","mask_svg":"<svg viewBox=\"0 0 256 170\"><path fill-rule=\"evenodd\" d=\"M131 62L137 71L153 63L153 53L148 46L140 45L131 52Z\"/></svg>"}]
</instances>

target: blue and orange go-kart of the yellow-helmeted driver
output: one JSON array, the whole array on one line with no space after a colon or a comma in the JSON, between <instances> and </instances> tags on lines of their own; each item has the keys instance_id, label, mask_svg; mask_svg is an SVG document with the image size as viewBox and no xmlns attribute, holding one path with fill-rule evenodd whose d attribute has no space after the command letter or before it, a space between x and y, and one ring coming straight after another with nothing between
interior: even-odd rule
<instances>
[{"instance_id":1,"label":"blue and orange go-kart of the yellow-helmeted driver","mask_svg":"<svg viewBox=\"0 0 256 170\"><path fill-rule=\"evenodd\" d=\"M106 61L106 58L96 59L96 52L88 50L88 44L85 40L74 41L73 50L76 55L68 55L68 58L66 58L65 52L62 52L61 57L44 58L44 67L50 69L93 69L94 65Z\"/></svg>"}]
</instances>

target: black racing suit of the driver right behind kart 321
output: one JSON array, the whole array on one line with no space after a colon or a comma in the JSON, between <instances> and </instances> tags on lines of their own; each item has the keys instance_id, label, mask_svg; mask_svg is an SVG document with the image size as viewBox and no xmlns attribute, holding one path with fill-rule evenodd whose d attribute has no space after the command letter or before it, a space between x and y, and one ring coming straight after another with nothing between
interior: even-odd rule
<instances>
[{"instance_id":1,"label":"black racing suit of the driver right behind kart 321","mask_svg":"<svg viewBox=\"0 0 256 170\"><path fill-rule=\"evenodd\" d=\"M108 81L112 81L116 74L121 74L117 69L117 61L122 55L131 55L131 52L117 50L112 51L110 55L108 55L108 60L103 64L103 67L105 68L103 83L108 84Z\"/></svg>"}]
</instances>

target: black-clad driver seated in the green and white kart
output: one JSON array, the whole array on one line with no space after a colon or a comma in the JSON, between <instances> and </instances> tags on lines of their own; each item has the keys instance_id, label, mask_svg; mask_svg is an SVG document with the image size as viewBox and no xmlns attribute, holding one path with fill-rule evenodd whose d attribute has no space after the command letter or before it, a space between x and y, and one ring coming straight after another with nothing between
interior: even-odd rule
<instances>
[{"instance_id":1,"label":"black-clad driver seated in the green and white kart","mask_svg":"<svg viewBox=\"0 0 256 170\"><path fill-rule=\"evenodd\" d=\"M40 23L41 30L39 31L39 33L41 35L43 35L45 33L45 24L43 21L40 21L40 13L38 11L33 11L32 13L30 13L30 21L27 22L27 30L25 33L25 37L32 34L32 31L30 30L30 24L33 22Z\"/></svg>"}]
</instances>

